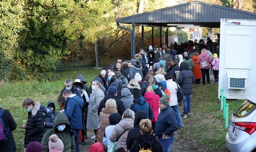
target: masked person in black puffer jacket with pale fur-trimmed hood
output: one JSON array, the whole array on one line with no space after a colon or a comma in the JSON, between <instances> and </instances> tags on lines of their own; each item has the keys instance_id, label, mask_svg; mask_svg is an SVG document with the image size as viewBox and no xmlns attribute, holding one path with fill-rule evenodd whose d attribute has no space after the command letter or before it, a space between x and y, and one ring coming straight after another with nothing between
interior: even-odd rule
<instances>
[{"instance_id":1,"label":"masked person in black puffer jacket with pale fur-trimmed hood","mask_svg":"<svg viewBox=\"0 0 256 152\"><path fill-rule=\"evenodd\" d=\"M44 117L43 110L40 109L40 103L34 102L32 99L25 99L22 103L22 107L28 112L27 124L21 128L26 129L24 138L24 148L26 149L31 142L39 142L44 136Z\"/></svg>"}]
</instances>

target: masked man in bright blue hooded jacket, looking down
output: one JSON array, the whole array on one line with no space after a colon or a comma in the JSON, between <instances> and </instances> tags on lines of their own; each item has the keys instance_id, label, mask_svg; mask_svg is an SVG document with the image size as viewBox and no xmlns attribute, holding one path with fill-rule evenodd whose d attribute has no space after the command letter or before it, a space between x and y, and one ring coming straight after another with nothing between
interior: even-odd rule
<instances>
[{"instance_id":1,"label":"masked man in bright blue hooded jacket, looking down","mask_svg":"<svg viewBox=\"0 0 256 152\"><path fill-rule=\"evenodd\" d=\"M82 107L83 100L82 98L72 94L70 90L65 90L63 92L64 99L66 100L64 104L64 110L61 112L65 113L70 125L72 132L74 133L75 140L75 152L79 152L79 130L83 129L82 125Z\"/></svg>"}]
</instances>

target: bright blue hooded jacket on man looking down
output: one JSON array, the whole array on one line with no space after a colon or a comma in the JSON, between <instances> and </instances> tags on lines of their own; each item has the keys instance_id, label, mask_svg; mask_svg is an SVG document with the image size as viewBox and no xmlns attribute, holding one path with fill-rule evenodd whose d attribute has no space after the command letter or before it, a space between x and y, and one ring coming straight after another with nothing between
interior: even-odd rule
<instances>
[{"instance_id":1,"label":"bright blue hooded jacket on man looking down","mask_svg":"<svg viewBox=\"0 0 256 152\"><path fill-rule=\"evenodd\" d=\"M65 101L64 113L66 114L72 129L83 129L82 107L83 99L78 96L67 98Z\"/></svg>"}]
</instances>

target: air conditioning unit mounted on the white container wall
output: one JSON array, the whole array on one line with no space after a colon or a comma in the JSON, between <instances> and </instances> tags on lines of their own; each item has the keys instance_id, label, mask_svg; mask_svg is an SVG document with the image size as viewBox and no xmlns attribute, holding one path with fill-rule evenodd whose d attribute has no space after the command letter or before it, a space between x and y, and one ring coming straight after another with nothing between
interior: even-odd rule
<instances>
[{"instance_id":1,"label":"air conditioning unit mounted on the white container wall","mask_svg":"<svg viewBox=\"0 0 256 152\"><path fill-rule=\"evenodd\" d=\"M244 71L228 71L228 89L246 90L248 73Z\"/></svg>"}]
</instances>

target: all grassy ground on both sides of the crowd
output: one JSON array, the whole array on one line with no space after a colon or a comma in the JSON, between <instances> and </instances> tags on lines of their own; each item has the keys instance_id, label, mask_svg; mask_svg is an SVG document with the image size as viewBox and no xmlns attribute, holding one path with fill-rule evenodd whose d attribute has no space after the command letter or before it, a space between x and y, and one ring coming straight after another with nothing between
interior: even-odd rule
<instances>
[{"instance_id":1,"label":"all grassy ground on both sides of the crowd","mask_svg":"<svg viewBox=\"0 0 256 152\"><path fill-rule=\"evenodd\" d=\"M57 105L56 100L64 87L65 79L74 81L78 74L83 74L87 82L90 83L99 72L100 70L95 69L69 70L58 72L58 79L52 82L5 83L0 87L0 106L8 109L17 123L17 129L13 131L17 152L23 150L24 143L25 131L19 128L26 123L27 119L27 112L21 107L24 99L31 98L43 104L55 101ZM193 90L192 116L183 120L185 128L180 131L183 134L182 138L187 138L192 143L191 145L195 145L196 150L225 151L227 130L224 129L222 112L219 110L218 86L216 84L195 85ZM242 102L242 100L227 101L229 103L229 118ZM187 150L193 151L194 149L187 148Z\"/></svg>"}]
</instances>

